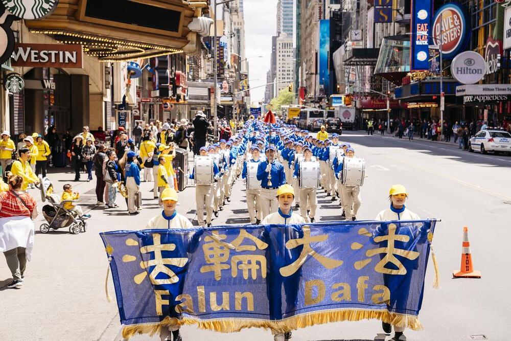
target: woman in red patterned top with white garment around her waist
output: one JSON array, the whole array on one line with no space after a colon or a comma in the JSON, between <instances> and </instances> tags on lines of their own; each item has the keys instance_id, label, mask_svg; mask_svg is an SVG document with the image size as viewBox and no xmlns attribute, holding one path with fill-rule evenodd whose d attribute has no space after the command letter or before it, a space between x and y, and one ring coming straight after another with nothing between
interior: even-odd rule
<instances>
[{"instance_id":1,"label":"woman in red patterned top with white garment around her waist","mask_svg":"<svg viewBox=\"0 0 511 341\"><path fill-rule=\"evenodd\" d=\"M23 177L9 177L9 191L0 193L0 251L4 252L12 281L8 288L19 288L25 279L27 261L32 258L37 202L22 190Z\"/></svg>"}]
</instances>

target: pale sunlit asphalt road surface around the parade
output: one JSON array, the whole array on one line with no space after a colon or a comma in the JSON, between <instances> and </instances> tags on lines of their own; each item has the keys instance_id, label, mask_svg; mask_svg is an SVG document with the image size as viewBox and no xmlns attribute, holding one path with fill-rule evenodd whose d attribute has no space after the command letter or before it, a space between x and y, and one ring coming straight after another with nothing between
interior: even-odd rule
<instances>
[{"instance_id":1,"label":"pale sunlit asphalt road surface around the parade","mask_svg":"<svg viewBox=\"0 0 511 341\"><path fill-rule=\"evenodd\" d=\"M505 255L511 242L511 157L469 153L454 145L427 141L367 136L364 132L344 132L341 140L351 143L356 155L366 160L367 178L361 190L358 219L374 219L387 208L388 189L397 183L405 185L410 193L410 210L422 218L442 219L433 240L440 288L433 289L433 269L429 266L419 315L424 330L408 330L408 339L470 340L470 335L510 339L511 298L506 289L511 276ZM72 176L51 175L57 187ZM74 236L62 231L36 235L33 261L28 265L23 288L0 289L1 340L116 339L119 316L117 306L105 299L108 262L98 233L143 229L158 213L155 200L150 199L151 185L142 186L144 210L136 217L128 217L120 209L108 212L96 208L84 234ZM82 182L76 188L83 194L84 206L94 208L93 184ZM243 188L238 181L231 202L214 224L248 222ZM190 218L195 215L193 194L193 188L181 193L178 206ZM339 207L324 194L318 195L318 202L317 221L339 219ZM125 207L121 198L118 204ZM42 221L38 217L37 228ZM452 271L460 265L463 226L469 227L474 266L482 272L481 279L452 279ZM9 278L5 262L0 261L0 287ZM113 294L111 280L108 287ZM259 329L229 334L195 326L181 330L184 340L272 339L269 331ZM378 333L382 333L378 321L342 322L295 331L292 340L373 340Z\"/></svg>"}]
</instances>

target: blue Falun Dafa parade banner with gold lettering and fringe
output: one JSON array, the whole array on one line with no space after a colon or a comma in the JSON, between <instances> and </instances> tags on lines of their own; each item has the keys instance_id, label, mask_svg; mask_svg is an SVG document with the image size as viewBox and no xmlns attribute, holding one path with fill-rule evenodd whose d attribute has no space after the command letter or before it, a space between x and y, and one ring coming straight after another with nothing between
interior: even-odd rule
<instances>
[{"instance_id":1,"label":"blue Falun Dafa parade banner with gold lettering and fringe","mask_svg":"<svg viewBox=\"0 0 511 341\"><path fill-rule=\"evenodd\" d=\"M435 219L113 231L123 337L197 324L288 331L380 319L414 330Z\"/></svg>"}]
</instances>

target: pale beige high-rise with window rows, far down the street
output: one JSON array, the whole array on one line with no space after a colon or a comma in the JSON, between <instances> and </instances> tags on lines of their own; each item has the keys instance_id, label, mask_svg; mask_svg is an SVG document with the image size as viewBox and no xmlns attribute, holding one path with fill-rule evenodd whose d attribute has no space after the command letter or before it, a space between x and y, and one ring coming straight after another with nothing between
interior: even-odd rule
<instances>
[{"instance_id":1,"label":"pale beige high-rise with window rows, far down the street","mask_svg":"<svg viewBox=\"0 0 511 341\"><path fill-rule=\"evenodd\" d=\"M293 37L281 33L276 39L276 69L275 84L276 94L294 83L294 60L293 60Z\"/></svg>"}]
</instances>

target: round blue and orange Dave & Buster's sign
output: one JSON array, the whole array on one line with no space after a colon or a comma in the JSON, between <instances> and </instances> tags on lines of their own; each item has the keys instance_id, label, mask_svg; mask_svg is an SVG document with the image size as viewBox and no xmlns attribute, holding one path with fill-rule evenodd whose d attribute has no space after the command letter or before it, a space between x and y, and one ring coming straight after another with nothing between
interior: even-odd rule
<instances>
[{"instance_id":1,"label":"round blue and orange Dave & Buster's sign","mask_svg":"<svg viewBox=\"0 0 511 341\"><path fill-rule=\"evenodd\" d=\"M458 4L449 3L436 11L433 20L433 44L441 46L443 58L453 58L462 51L469 35L467 18Z\"/></svg>"}]
</instances>

